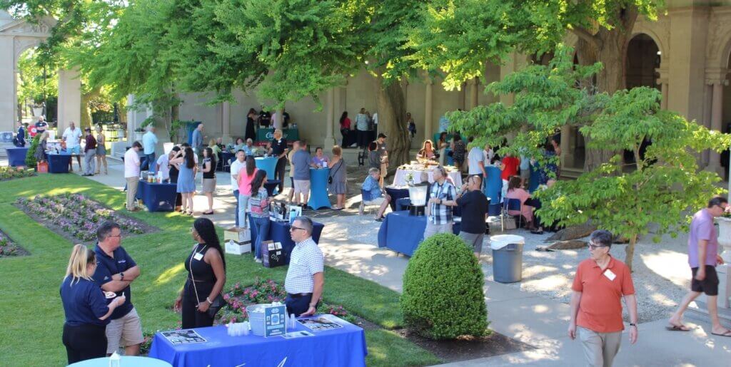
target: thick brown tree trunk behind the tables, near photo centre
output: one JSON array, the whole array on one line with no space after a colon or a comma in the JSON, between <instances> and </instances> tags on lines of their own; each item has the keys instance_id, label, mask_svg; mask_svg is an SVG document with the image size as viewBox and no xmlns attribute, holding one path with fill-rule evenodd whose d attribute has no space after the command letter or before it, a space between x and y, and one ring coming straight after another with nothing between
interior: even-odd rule
<instances>
[{"instance_id":1,"label":"thick brown tree trunk behind the tables, near photo centre","mask_svg":"<svg viewBox=\"0 0 731 367\"><path fill-rule=\"evenodd\" d=\"M376 77L376 101L378 103L379 128L385 131L388 148L388 172L409 162L409 131L406 130L406 98L400 82L386 81Z\"/></svg>"}]
</instances>

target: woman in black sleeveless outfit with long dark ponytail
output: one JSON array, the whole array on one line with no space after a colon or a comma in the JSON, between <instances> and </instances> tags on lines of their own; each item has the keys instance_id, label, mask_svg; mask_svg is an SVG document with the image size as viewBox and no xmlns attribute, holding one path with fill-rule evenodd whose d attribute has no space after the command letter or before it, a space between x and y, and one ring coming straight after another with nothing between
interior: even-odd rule
<instances>
[{"instance_id":1,"label":"woman in black sleeveless outfit with long dark ponytail","mask_svg":"<svg viewBox=\"0 0 731 367\"><path fill-rule=\"evenodd\" d=\"M188 277L173 307L182 312L183 329L213 325L213 317L224 303L221 290L226 283L226 258L213 222L198 218L190 233L197 243L186 258Z\"/></svg>"}]
</instances>

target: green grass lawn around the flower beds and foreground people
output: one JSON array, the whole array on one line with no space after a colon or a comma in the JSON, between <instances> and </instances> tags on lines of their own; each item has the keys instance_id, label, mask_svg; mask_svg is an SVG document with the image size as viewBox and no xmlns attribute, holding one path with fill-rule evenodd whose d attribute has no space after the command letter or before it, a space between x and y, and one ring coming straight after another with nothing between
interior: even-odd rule
<instances>
[{"instance_id":1,"label":"green grass lawn around the flower beds and foreground people","mask_svg":"<svg viewBox=\"0 0 731 367\"><path fill-rule=\"evenodd\" d=\"M61 343L64 310L58 285L64 277L72 242L49 231L12 206L15 198L37 194L83 193L110 208L124 208L124 193L75 174L44 174L0 182L0 229L30 256L0 259L0 366L61 366L66 352ZM183 259L192 239L192 218L174 213L136 212L130 215L162 232L123 239L142 274L132 286L132 302L145 331L177 325L170 311L185 279ZM223 228L221 228L221 232ZM222 233L221 233L222 236ZM255 277L284 283L287 268L265 269L251 257L227 257L228 284L249 284ZM333 268L325 269L325 301L341 304L384 328L398 328L403 320L398 293L374 282ZM366 331L368 366L423 366L439 363L430 352L392 331Z\"/></svg>"}]
</instances>

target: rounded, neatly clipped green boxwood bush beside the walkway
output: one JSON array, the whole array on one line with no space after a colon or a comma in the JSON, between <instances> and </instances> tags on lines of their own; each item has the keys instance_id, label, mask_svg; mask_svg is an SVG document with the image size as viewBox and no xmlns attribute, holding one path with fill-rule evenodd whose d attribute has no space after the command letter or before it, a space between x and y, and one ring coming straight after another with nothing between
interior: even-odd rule
<instances>
[{"instance_id":1,"label":"rounded, neatly clipped green boxwood bush beside the walkway","mask_svg":"<svg viewBox=\"0 0 731 367\"><path fill-rule=\"evenodd\" d=\"M412 331L430 339L485 336L485 277L472 249L452 233L425 239L404 274L401 312Z\"/></svg>"}]
</instances>

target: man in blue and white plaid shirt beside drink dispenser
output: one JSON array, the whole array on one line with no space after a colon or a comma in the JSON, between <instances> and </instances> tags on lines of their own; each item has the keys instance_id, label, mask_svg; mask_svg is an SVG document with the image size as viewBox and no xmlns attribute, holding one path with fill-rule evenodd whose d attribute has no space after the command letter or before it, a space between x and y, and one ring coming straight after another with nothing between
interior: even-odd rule
<instances>
[{"instance_id":1,"label":"man in blue and white plaid shirt beside drink dispenser","mask_svg":"<svg viewBox=\"0 0 731 367\"><path fill-rule=\"evenodd\" d=\"M426 229L424 239L436 233L452 233L452 206L457 205L457 190L447 181L447 171L442 166L433 170L434 183L431 185L429 201L426 206Z\"/></svg>"}]
</instances>

